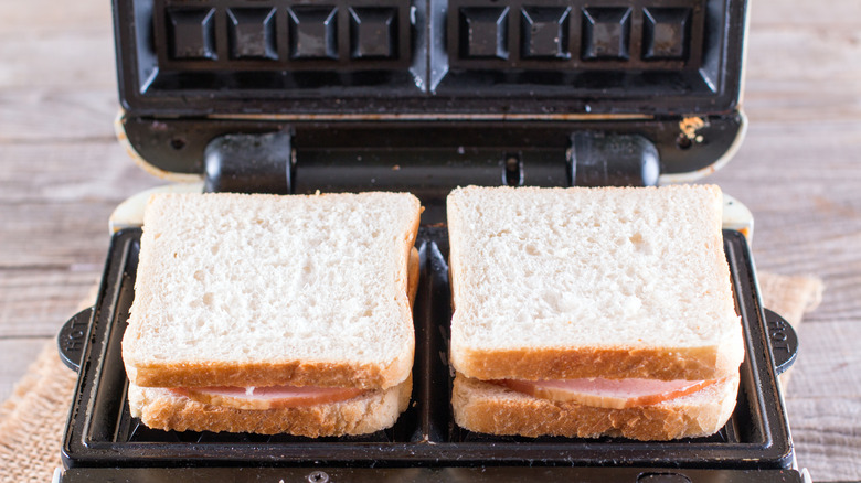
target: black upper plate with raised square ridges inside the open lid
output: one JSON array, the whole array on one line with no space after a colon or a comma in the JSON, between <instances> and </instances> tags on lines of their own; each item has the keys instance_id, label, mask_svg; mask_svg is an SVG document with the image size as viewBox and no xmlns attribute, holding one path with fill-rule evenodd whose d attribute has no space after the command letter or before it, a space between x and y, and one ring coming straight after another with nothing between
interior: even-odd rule
<instances>
[{"instance_id":1,"label":"black upper plate with raised square ridges inside the open lid","mask_svg":"<svg viewBox=\"0 0 861 483\"><path fill-rule=\"evenodd\" d=\"M114 0L135 116L729 114L744 0Z\"/></svg>"}]
</instances>

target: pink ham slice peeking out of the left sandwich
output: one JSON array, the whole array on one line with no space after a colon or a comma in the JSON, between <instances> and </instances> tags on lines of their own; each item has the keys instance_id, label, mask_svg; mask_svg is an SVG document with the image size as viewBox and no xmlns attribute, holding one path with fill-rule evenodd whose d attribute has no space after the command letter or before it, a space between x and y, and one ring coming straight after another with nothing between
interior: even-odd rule
<instances>
[{"instance_id":1,"label":"pink ham slice peeking out of the left sandwich","mask_svg":"<svg viewBox=\"0 0 861 483\"><path fill-rule=\"evenodd\" d=\"M280 409L338 402L364 393L353 387L181 387L171 389L198 402L236 409Z\"/></svg>"}]
</instances>

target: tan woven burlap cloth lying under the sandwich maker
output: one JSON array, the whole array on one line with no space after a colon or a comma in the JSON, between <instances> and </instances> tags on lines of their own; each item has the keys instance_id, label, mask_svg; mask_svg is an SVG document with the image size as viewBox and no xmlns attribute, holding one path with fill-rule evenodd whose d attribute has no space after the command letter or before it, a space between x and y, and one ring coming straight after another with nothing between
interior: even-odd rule
<instances>
[{"instance_id":1,"label":"tan woven burlap cloth lying under the sandwich maker","mask_svg":"<svg viewBox=\"0 0 861 483\"><path fill-rule=\"evenodd\" d=\"M818 305L822 293L821 281L812 277L759 273L759 287L765 307L796 328L804 313ZM12 396L0 406L2 482L51 481L54 469L61 464L61 439L75 377L60 362L56 342L49 341L17 384ZM782 379L786 384L783 376Z\"/></svg>"}]
</instances>

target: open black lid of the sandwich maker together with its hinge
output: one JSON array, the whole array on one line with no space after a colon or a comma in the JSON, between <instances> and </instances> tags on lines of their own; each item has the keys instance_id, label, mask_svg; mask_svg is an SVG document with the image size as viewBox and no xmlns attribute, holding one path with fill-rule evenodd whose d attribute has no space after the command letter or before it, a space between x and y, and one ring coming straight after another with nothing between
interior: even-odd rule
<instances>
[{"instance_id":1,"label":"open black lid of the sandwich maker together with its hinge","mask_svg":"<svg viewBox=\"0 0 861 483\"><path fill-rule=\"evenodd\" d=\"M744 0L115 0L120 138L211 191L650 185L734 152Z\"/></svg>"}]
</instances>

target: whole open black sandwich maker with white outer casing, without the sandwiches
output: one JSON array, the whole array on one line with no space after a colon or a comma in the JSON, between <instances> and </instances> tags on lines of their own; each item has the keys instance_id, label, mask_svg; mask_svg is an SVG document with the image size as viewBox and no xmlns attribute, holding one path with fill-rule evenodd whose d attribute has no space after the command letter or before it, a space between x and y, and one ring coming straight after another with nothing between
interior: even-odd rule
<instances>
[{"instance_id":1,"label":"whole open black sandwich maker with white outer casing, without the sandwiches","mask_svg":"<svg viewBox=\"0 0 861 483\"><path fill-rule=\"evenodd\" d=\"M750 213L724 248L746 356L716 434L667 442L520 438L455 425L445 196L458 185L653 185L729 160L745 0L113 0L117 132L161 191L410 191L413 398L362 437L177 432L131 418L120 341L147 193L111 216L95 307L57 336L78 372L66 483L800 482L777 374L791 328L761 304Z\"/></svg>"}]
</instances>

